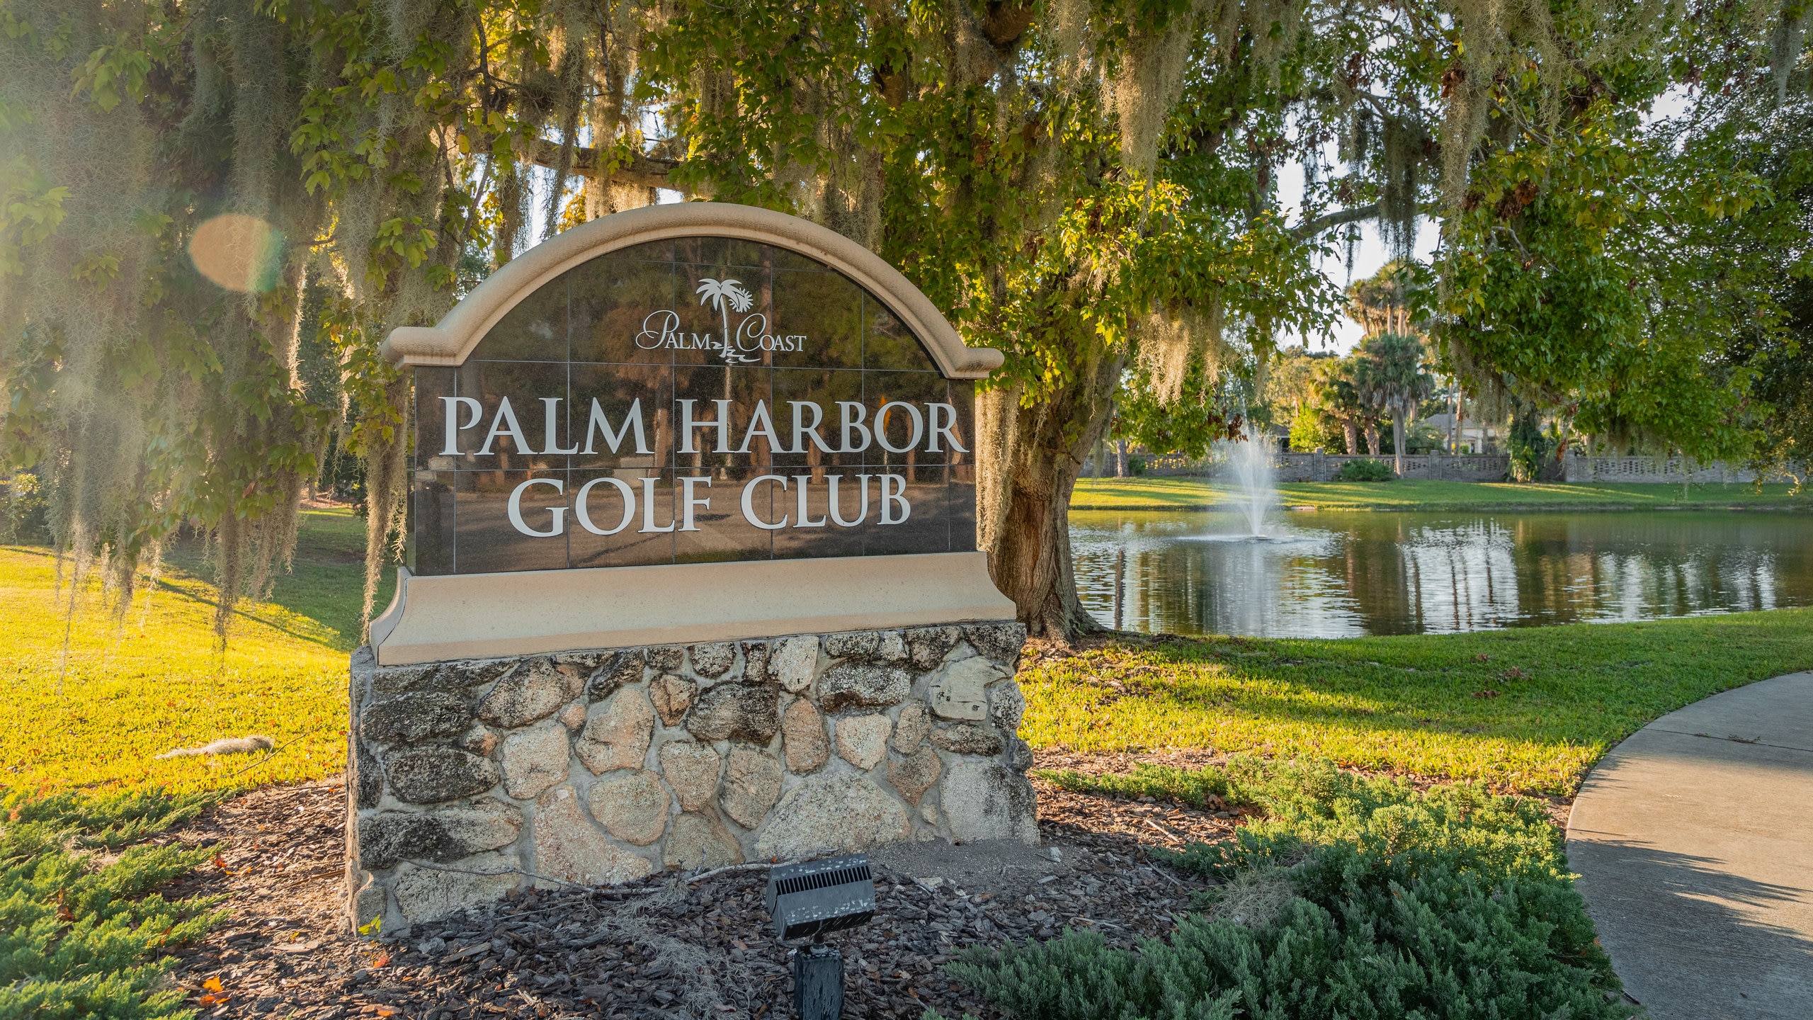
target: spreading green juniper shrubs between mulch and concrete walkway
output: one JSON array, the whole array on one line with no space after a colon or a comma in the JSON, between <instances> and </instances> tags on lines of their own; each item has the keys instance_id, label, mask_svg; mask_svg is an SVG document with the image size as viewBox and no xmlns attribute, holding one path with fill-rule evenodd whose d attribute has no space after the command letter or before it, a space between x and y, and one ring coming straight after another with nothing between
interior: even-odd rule
<instances>
[{"instance_id":1,"label":"spreading green juniper shrubs between mulch and concrete walkway","mask_svg":"<svg viewBox=\"0 0 1813 1020\"><path fill-rule=\"evenodd\" d=\"M1541 804L1331 762L1215 771L1267 819L1173 855L1226 884L1169 940L1129 953L1071 931L950 973L1026 1020L1634 1015Z\"/></svg>"}]
</instances>

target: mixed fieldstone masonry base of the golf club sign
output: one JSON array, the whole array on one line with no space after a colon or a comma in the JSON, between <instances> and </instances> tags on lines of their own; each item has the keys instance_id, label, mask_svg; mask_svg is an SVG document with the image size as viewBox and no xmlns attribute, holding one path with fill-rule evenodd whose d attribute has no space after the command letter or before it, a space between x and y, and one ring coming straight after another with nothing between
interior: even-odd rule
<instances>
[{"instance_id":1,"label":"mixed fieldstone masonry base of the golf club sign","mask_svg":"<svg viewBox=\"0 0 1813 1020\"><path fill-rule=\"evenodd\" d=\"M352 657L346 920L905 840L1037 842L1026 630Z\"/></svg>"}]
</instances>

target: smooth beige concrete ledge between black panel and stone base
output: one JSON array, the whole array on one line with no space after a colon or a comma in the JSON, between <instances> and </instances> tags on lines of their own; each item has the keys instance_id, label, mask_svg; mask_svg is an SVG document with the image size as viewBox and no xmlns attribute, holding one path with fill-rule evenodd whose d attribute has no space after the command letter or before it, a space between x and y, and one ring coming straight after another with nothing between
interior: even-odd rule
<instances>
[{"instance_id":1,"label":"smooth beige concrete ledge between black panel and stone base","mask_svg":"<svg viewBox=\"0 0 1813 1020\"><path fill-rule=\"evenodd\" d=\"M415 577L372 621L379 666L1012 621L983 552Z\"/></svg>"}]
</instances>

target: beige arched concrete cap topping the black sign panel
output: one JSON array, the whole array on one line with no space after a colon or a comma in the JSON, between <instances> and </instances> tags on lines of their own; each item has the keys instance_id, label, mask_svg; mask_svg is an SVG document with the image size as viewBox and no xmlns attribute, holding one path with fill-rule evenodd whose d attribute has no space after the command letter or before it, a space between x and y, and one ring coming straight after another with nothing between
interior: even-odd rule
<instances>
[{"instance_id":1,"label":"beige arched concrete cap topping the black sign panel","mask_svg":"<svg viewBox=\"0 0 1813 1020\"><path fill-rule=\"evenodd\" d=\"M392 365L462 365L486 332L519 301L562 272L618 249L674 238L732 238L774 245L818 260L874 294L914 336L948 379L983 379L1004 356L965 347L950 321L897 269L818 223L722 201L682 201L613 212L582 223L506 263L433 327L399 327L384 338Z\"/></svg>"}]
</instances>

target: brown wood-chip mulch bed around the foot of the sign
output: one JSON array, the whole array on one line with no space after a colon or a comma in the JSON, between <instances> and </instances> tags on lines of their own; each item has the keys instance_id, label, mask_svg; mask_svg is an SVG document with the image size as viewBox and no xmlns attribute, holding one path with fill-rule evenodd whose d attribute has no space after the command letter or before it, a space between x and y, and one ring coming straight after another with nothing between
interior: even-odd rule
<instances>
[{"instance_id":1,"label":"brown wood-chip mulch bed around the foot of the sign","mask_svg":"<svg viewBox=\"0 0 1813 1020\"><path fill-rule=\"evenodd\" d=\"M1166 935L1207 886L1146 848L1227 839L1238 820L1033 786L1037 849L910 844L874 855L876 920L829 938L843 949L847 1016L994 1016L943 973L972 946L1064 927L1115 946ZM341 929L337 780L257 790L170 839L218 849L167 891L225 897L228 918L183 947L174 973L208 1018L792 1016L789 946L774 940L761 902L765 866L524 893L386 942Z\"/></svg>"}]
</instances>

